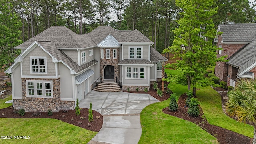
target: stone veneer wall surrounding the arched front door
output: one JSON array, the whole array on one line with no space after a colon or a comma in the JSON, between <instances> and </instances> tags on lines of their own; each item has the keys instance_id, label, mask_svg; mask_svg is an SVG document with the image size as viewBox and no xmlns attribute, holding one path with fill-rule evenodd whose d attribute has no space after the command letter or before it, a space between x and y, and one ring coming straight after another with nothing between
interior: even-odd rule
<instances>
[{"instance_id":1,"label":"stone veneer wall surrounding the arched front door","mask_svg":"<svg viewBox=\"0 0 256 144\"><path fill-rule=\"evenodd\" d=\"M110 59L106 59L106 49L110 49ZM116 59L113 59L113 49L116 49ZM114 80L116 81L116 77L119 81L119 48L103 48L104 50L104 57L100 59L100 75L102 76L102 81L104 80L104 66L110 65L114 66L115 69L115 76Z\"/></svg>"}]
</instances>

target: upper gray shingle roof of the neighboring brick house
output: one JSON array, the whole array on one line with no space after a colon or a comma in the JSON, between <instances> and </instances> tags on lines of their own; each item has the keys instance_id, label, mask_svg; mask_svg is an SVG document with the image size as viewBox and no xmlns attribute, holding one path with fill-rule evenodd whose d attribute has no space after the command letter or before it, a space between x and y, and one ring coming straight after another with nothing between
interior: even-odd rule
<instances>
[{"instance_id":1,"label":"upper gray shingle roof of the neighboring brick house","mask_svg":"<svg viewBox=\"0 0 256 144\"><path fill-rule=\"evenodd\" d=\"M223 42L251 42L256 24L219 24Z\"/></svg>"}]
</instances>

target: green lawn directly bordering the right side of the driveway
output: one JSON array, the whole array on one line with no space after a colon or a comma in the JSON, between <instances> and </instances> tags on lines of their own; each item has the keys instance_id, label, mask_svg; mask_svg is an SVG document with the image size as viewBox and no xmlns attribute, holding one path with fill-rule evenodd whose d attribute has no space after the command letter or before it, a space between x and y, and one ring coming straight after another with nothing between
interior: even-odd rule
<instances>
[{"instance_id":1,"label":"green lawn directly bordering the right side of the driveway","mask_svg":"<svg viewBox=\"0 0 256 144\"><path fill-rule=\"evenodd\" d=\"M138 144L213 144L216 138L192 122L164 114L170 100L151 104L140 113L142 135Z\"/></svg>"}]
</instances>

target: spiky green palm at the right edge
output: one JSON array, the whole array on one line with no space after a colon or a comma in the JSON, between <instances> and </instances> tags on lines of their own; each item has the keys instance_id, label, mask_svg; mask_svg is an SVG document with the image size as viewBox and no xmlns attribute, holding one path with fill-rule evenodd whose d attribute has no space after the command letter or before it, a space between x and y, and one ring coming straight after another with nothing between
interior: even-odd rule
<instances>
[{"instance_id":1,"label":"spiky green palm at the right edge","mask_svg":"<svg viewBox=\"0 0 256 144\"><path fill-rule=\"evenodd\" d=\"M253 144L256 144L256 81L240 80L234 91L230 91L226 112L235 116L239 122L254 126Z\"/></svg>"}]
</instances>

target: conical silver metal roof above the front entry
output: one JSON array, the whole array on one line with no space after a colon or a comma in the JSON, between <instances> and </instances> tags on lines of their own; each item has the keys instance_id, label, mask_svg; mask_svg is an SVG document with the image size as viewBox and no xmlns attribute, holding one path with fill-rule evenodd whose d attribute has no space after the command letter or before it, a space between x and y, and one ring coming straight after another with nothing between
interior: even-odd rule
<instances>
[{"instance_id":1,"label":"conical silver metal roof above the front entry","mask_svg":"<svg viewBox=\"0 0 256 144\"><path fill-rule=\"evenodd\" d=\"M98 47L120 47L121 44L114 38L112 35L108 35L104 40L102 40L99 44L97 44Z\"/></svg>"}]
</instances>

